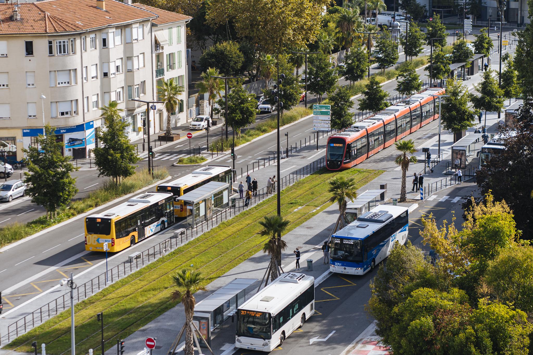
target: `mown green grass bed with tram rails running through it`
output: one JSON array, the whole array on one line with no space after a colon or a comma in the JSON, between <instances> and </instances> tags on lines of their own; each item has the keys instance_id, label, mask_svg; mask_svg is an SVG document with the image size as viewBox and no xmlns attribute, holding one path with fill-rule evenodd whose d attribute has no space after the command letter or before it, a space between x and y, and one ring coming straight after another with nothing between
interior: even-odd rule
<instances>
[{"instance_id":1,"label":"mown green grass bed with tram rails running through it","mask_svg":"<svg viewBox=\"0 0 533 355\"><path fill-rule=\"evenodd\" d=\"M321 170L287 187L281 193L281 214L290 221L286 233L318 213L311 213L317 207L330 205L330 194L327 192L327 180L330 178L337 175L353 176L358 187L361 187L381 173L365 169L341 172ZM294 211L295 206L302 208ZM78 303L75 306L76 352L85 354L88 349L99 348L100 325L96 321L96 313L104 312L104 339L106 349L109 349L116 344L117 339L132 334L175 306L176 303L170 301L170 293L171 275L176 270L192 264L193 268L201 270L207 277L207 284L260 251L266 237L259 234L259 221L274 213L276 197L272 196ZM176 329L179 327L176 324ZM70 311L64 311L18 337L6 349L31 351L33 341L46 343L47 352L52 354L69 351Z\"/></svg>"}]
</instances>

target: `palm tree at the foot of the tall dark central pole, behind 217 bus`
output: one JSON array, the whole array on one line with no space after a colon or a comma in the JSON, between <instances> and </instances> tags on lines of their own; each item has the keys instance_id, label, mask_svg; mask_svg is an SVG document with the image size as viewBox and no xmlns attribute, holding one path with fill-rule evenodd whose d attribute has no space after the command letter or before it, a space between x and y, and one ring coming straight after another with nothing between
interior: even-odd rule
<instances>
[{"instance_id":1,"label":"palm tree at the foot of the tall dark central pole, behind 217 bus","mask_svg":"<svg viewBox=\"0 0 533 355\"><path fill-rule=\"evenodd\" d=\"M265 216L264 220L259 221L259 224L263 226L260 234L269 236L269 240L263 246L263 252L270 255L270 279L273 281L279 276L278 266L281 266L281 251L287 248L287 243L278 238L278 234L281 235L287 228L289 221L276 214L275 216Z\"/></svg>"}]
</instances>

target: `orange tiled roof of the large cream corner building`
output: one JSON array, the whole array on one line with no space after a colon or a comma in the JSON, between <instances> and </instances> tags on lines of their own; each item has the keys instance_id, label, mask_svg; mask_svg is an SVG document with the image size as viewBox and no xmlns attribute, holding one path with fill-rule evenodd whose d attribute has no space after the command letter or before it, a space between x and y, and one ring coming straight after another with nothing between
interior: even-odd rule
<instances>
[{"instance_id":1,"label":"orange tiled roof of the large cream corner building","mask_svg":"<svg viewBox=\"0 0 533 355\"><path fill-rule=\"evenodd\" d=\"M0 4L0 35L83 31L157 18L151 12L116 0L106 0L105 11L96 7L96 0L46 0L20 4L20 20L15 21L14 6Z\"/></svg>"}]
</instances>

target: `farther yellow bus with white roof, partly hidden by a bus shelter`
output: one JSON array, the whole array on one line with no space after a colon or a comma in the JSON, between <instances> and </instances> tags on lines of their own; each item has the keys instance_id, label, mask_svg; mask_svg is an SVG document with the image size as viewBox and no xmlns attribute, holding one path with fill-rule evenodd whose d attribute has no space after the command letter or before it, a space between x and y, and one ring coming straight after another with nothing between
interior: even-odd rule
<instances>
[{"instance_id":1,"label":"farther yellow bus with white roof, partly hidden by a bus shelter","mask_svg":"<svg viewBox=\"0 0 533 355\"><path fill-rule=\"evenodd\" d=\"M171 192L174 195L175 216L187 217L190 216L192 210L185 208L183 201L177 201L177 197L191 192L193 189L205 185L210 181L231 184L231 168L219 165L209 165L169 183L157 185L156 190L159 192Z\"/></svg>"}]
</instances>

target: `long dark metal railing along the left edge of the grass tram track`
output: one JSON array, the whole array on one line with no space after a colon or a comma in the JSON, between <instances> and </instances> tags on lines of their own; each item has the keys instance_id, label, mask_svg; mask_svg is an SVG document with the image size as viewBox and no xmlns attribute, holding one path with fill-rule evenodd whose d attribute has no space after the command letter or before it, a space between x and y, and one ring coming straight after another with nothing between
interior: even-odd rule
<instances>
[{"instance_id":1,"label":"long dark metal railing along the left edge of the grass tram track","mask_svg":"<svg viewBox=\"0 0 533 355\"><path fill-rule=\"evenodd\" d=\"M305 167L293 171L287 176L282 177L280 180L281 189L296 183L296 181L309 176L317 170L320 170L325 166L325 164L326 159L323 157L311 162ZM109 269L107 271L107 275L104 272L87 281L86 283L77 286L74 290L75 302L83 301L96 292L102 290L109 284L112 284L120 278L130 275L134 271L141 269L144 265L147 265L148 263L155 261L161 256L176 249L176 247L187 243L189 239L192 240L193 238L207 232L209 229L216 227L224 220L230 219L240 212L251 208L253 205L267 199L268 197L271 197L276 193L276 188L277 184L271 189L271 191L268 191L266 187L260 189L252 197L252 200L248 203L248 205L246 205L245 200L233 198L228 208L212 214L212 216L210 216L208 219L196 222L193 226L177 229L174 235L166 238L164 241L161 241L147 250L135 253L134 257L128 258L128 260L125 260L119 265ZM58 313L69 309L69 298L70 291L45 304L44 306L29 312L25 317L22 317L10 324L7 327L7 334L0 334L0 345L9 343L19 335L25 334L35 326L42 324L47 319L50 319L51 317L58 315Z\"/></svg>"}]
</instances>

